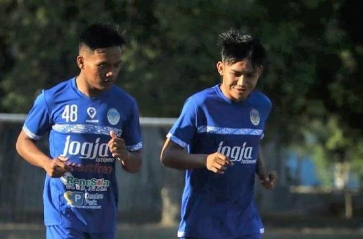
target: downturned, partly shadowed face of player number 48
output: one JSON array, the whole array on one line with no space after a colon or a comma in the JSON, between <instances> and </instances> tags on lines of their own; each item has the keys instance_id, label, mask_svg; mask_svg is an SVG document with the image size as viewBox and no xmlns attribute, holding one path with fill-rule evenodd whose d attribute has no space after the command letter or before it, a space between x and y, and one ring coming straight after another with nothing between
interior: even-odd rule
<instances>
[{"instance_id":1,"label":"downturned, partly shadowed face of player number 48","mask_svg":"<svg viewBox=\"0 0 363 239\"><path fill-rule=\"evenodd\" d=\"M106 47L83 54L82 74L90 88L106 90L115 82L121 67L121 48Z\"/></svg>"}]
</instances>

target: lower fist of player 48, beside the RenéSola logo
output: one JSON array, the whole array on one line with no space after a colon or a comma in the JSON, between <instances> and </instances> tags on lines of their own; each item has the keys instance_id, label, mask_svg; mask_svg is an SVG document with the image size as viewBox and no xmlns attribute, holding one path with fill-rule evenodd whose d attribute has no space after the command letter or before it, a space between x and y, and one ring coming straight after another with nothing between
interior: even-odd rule
<instances>
[{"instance_id":1,"label":"lower fist of player 48, beside the Ren\u00e9Sola logo","mask_svg":"<svg viewBox=\"0 0 363 239\"><path fill-rule=\"evenodd\" d=\"M73 171L76 163L69 163L68 158L58 156L47 161L44 165L44 170L52 178L60 178L67 171Z\"/></svg>"}]
</instances>

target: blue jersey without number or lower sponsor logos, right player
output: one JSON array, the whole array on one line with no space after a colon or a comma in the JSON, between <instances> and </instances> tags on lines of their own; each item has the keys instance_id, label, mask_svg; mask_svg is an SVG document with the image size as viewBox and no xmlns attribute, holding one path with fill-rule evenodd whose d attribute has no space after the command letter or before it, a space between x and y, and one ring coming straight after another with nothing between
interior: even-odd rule
<instances>
[{"instance_id":1,"label":"blue jersey without number or lower sponsor logos, right player","mask_svg":"<svg viewBox=\"0 0 363 239\"><path fill-rule=\"evenodd\" d=\"M233 102L219 85L189 97L168 138L189 153L220 152L234 162L224 174L185 174L179 237L235 239L264 232L254 203L256 162L271 101L254 91Z\"/></svg>"}]
</instances>

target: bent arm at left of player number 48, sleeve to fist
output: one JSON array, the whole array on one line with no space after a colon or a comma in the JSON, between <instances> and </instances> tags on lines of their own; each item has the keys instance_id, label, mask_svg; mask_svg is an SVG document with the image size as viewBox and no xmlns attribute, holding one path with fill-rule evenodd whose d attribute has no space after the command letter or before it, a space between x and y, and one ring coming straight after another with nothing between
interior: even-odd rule
<instances>
[{"instance_id":1,"label":"bent arm at left of player number 48, sleeve to fist","mask_svg":"<svg viewBox=\"0 0 363 239\"><path fill-rule=\"evenodd\" d=\"M35 144L35 140L30 138L24 130L21 130L17 141L16 151L23 157L27 162L43 168L50 177L61 177L65 172L72 171L74 165L68 165L65 163L67 158L57 157L50 158Z\"/></svg>"}]
</instances>

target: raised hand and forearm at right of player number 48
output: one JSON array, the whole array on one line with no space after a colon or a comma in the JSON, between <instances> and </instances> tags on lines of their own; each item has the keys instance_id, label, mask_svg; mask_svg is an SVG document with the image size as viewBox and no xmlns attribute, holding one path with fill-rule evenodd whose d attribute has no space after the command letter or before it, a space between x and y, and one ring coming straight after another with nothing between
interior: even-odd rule
<instances>
[{"instance_id":1,"label":"raised hand and forearm at right of player number 48","mask_svg":"<svg viewBox=\"0 0 363 239\"><path fill-rule=\"evenodd\" d=\"M128 151L125 141L117 137L114 131L110 132L111 139L108 147L112 153L112 157L117 158L121 162L122 168L129 173L137 173L141 168L141 149L137 151Z\"/></svg>"}]
</instances>

